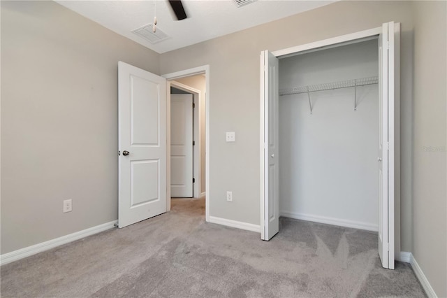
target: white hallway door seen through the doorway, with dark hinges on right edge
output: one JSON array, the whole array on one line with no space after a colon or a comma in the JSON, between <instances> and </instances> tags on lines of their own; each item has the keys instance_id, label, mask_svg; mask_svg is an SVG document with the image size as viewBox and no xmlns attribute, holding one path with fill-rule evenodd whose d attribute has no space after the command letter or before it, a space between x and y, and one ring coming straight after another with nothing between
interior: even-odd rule
<instances>
[{"instance_id":1,"label":"white hallway door seen through the doorway, with dark hinges on right edge","mask_svg":"<svg viewBox=\"0 0 447 298\"><path fill-rule=\"evenodd\" d=\"M193 94L170 95L170 196L193 197Z\"/></svg>"}]
</instances>

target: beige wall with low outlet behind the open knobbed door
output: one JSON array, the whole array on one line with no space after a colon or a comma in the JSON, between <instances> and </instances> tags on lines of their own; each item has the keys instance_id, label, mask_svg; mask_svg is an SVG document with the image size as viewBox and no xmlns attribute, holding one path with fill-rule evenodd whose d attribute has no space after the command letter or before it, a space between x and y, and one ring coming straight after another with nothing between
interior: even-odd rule
<instances>
[{"instance_id":1,"label":"beige wall with low outlet behind the open knobbed door","mask_svg":"<svg viewBox=\"0 0 447 298\"><path fill-rule=\"evenodd\" d=\"M1 1L1 254L117 219L120 60L159 73L55 2Z\"/></svg>"}]
</instances>

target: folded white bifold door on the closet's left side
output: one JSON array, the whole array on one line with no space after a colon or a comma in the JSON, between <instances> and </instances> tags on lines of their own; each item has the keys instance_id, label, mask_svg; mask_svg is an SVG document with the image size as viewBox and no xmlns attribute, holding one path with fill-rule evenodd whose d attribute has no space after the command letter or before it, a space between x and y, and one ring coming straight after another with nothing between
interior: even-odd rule
<instances>
[{"instance_id":1,"label":"folded white bifold door on the closet's left side","mask_svg":"<svg viewBox=\"0 0 447 298\"><path fill-rule=\"evenodd\" d=\"M264 206L261 206L261 239L270 240L279 232L279 60L267 50L261 52L261 100L263 100L264 119L263 153L263 190ZM261 129L262 132L262 129Z\"/></svg>"}]
</instances>

